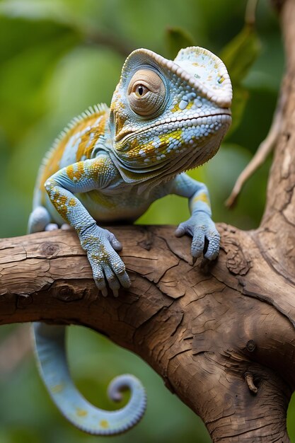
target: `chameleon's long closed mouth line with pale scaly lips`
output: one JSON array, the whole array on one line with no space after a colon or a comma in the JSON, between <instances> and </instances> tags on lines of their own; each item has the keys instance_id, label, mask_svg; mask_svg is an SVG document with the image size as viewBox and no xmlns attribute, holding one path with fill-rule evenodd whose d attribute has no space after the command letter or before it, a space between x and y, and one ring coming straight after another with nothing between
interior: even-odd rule
<instances>
[{"instance_id":1,"label":"chameleon's long closed mouth line with pale scaly lips","mask_svg":"<svg viewBox=\"0 0 295 443\"><path fill-rule=\"evenodd\" d=\"M168 117L163 120L158 120L157 122L154 122L143 129L135 130L134 128L130 128L125 132L120 132L120 134L117 134L116 142L120 142L123 138L128 139L129 137L136 136L137 134L144 134L146 132L150 132L151 130L156 130L157 128L161 128L162 133L168 133L183 127L187 128L198 127L201 125L213 125L216 122L221 124L231 124L231 110L229 108L218 110L216 113L202 114L203 115L192 114L183 117Z\"/></svg>"}]
</instances>

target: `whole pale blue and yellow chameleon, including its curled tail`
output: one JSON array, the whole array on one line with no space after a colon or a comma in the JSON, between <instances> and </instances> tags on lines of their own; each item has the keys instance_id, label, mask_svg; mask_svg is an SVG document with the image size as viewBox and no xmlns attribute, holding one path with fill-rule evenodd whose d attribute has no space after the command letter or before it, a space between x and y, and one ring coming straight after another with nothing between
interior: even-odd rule
<instances>
[{"instance_id":1,"label":"whole pale blue and yellow chameleon, including its curled tail","mask_svg":"<svg viewBox=\"0 0 295 443\"><path fill-rule=\"evenodd\" d=\"M115 297L130 280L117 251L120 241L98 223L134 222L154 200L168 194L189 199L191 217L175 231L192 236L193 262L214 260L219 233L211 219L206 186L184 171L202 165L219 149L231 124L232 88L223 62L201 47L180 50L174 61L134 50L122 68L110 108L97 105L76 117L42 163L29 231L74 227L96 286ZM207 249L204 247L206 244ZM132 375L112 381L110 397L131 390L129 403L105 411L86 401L69 376L65 327L34 323L40 374L58 408L74 425L114 435L138 422L146 407Z\"/></svg>"}]
</instances>

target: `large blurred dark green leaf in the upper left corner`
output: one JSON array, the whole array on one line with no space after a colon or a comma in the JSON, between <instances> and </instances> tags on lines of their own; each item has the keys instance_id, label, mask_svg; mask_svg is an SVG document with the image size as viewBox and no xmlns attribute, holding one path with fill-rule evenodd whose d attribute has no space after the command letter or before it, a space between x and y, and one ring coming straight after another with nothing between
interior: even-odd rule
<instances>
[{"instance_id":1,"label":"large blurred dark green leaf in the upper left corner","mask_svg":"<svg viewBox=\"0 0 295 443\"><path fill-rule=\"evenodd\" d=\"M14 146L47 110L47 85L57 62L82 35L65 23L11 17L0 8L0 40L0 120Z\"/></svg>"}]
</instances>

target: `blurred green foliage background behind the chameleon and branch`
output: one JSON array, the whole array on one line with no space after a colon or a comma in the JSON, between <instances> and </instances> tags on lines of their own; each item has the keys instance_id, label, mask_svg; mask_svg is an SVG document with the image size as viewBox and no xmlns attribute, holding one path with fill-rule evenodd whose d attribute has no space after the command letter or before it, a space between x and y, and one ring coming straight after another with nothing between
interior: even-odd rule
<instances>
[{"instance_id":1,"label":"blurred green foliage background behind the chameleon and branch","mask_svg":"<svg viewBox=\"0 0 295 443\"><path fill-rule=\"evenodd\" d=\"M235 96L233 126L219 153L191 175L208 185L216 222L258 226L271 159L233 209L224 201L270 127L284 53L270 3L260 0L254 27L245 25L246 6L245 0L0 0L0 236L25 234L42 156L72 117L110 104L127 54L146 47L170 58L191 44L224 59ZM168 196L139 223L178 224L187 216L187 202ZM108 442L210 442L202 421L139 357L90 330L69 329L71 372L93 403L112 408L106 386L123 372L146 386L144 420ZM105 441L74 429L54 408L28 337L27 325L0 329L0 442ZM289 433L295 442L291 420Z\"/></svg>"}]
</instances>

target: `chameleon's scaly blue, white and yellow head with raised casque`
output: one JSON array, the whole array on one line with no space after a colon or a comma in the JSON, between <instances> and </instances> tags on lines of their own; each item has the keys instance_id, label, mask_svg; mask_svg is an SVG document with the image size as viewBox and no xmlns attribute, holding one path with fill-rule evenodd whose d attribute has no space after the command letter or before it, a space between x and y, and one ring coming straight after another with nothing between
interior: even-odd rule
<instances>
[{"instance_id":1,"label":"chameleon's scaly blue, white and yellow head with raised casque","mask_svg":"<svg viewBox=\"0 0 295 443\"><path fill-rule=\"evenodd\" d=\"M229 129L231 98L229 74L212 52L187 47L171 61L135 50L110 107L117 166L163 178L201 165Z\"/></svg>"}]
</instances>

